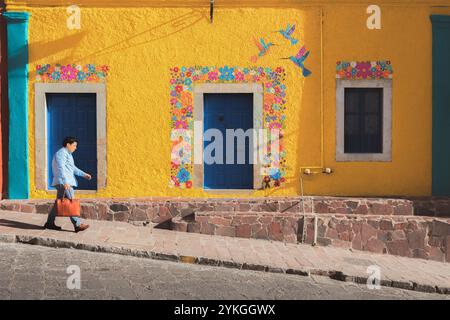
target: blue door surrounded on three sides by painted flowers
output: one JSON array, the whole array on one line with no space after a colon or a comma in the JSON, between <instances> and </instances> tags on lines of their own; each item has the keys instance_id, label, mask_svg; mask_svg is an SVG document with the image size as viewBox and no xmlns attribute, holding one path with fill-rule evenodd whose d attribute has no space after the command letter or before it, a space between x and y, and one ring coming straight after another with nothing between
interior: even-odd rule
<instances>
[{"instance_id":1,"label":"blue door surrounded on three sides by painted flowers","mask_svg":"<svg viewBox=\"0 0 450 320\"><path fill-rule=\"evenodd\" d=\"M205 189L253 189L253 164L250 157L253 151L249 150L249 139L245 139L245 163L238 163L238 148L243 146L234 143L233 164L226 163L226 129L253 128L253 94L248 93L210 93L204 95L204 133L208 129L218 129L223 137L222 164L204 163ZM213 140L214 141L214 140ZM205 141L204 147L213 141ZM215 153L212 153L215 156Z\"/></svg>"}]
</instances>

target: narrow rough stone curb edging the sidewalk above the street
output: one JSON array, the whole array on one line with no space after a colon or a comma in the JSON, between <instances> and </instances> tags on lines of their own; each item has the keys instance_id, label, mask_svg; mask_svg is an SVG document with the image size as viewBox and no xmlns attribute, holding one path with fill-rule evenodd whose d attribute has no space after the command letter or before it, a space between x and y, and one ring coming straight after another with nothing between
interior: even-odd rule
<instances>
[{"instance_id":1,"label":"narrow rough stone curb edging the sidewalk above the street","mask_svg":"<svg viewBox=\"0 0 450 320\"><path fill-rule=\"evenodd\" d=\"M271 267L260 264L239 263L229 260L218 260L205 257L194 257L185 255L176 255L164 252L155 252L151 250L126 248L120 246L112 246L105 244L88 244L77 243L74 241L64 241L48 237L36 237L27 235L13 235L13 234L0 234L1 243L21 243L30 245L39 245L52 248L66 248L66 249L78 249L100 253L112 253L125 256L133 256L138 258L148 258L155 260L166 260L179 263L191 263L198 265L208 265L215 267L226 267L240 270L253 270L271 273L284 273L291 275L299 275L309 277L311 275L325 276L333 280L353 282L357 284L367 283L367 277L355 276L345 274L342 271L337 270L323 270L323 269L284 269L278 267ZM439 293L450 294L450 287L431 286L428 284L416 283L412 281L396 281L396 280L381 280L380 285L384 287L393 287L405 290L419 291L425 293Z\"/></svg>"}]
</instances>

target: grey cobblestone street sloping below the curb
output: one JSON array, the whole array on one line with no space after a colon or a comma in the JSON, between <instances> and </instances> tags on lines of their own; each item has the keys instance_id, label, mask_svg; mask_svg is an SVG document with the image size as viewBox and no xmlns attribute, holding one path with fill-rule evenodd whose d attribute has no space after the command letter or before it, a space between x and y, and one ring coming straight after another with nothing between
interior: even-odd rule
<instances>
[{"instance_id":1,"label":"grey cobblestone street sloping below the curb","mask_svg":"<svg viewBox=\"0 0 450 320\"><path fill-rule=\"evenodd\" d=\"M67 288L69 265L81 289ZM73 249L0 244L1 299L449 299L327 277L236 270Z\"/></svg>"}]
</instances>

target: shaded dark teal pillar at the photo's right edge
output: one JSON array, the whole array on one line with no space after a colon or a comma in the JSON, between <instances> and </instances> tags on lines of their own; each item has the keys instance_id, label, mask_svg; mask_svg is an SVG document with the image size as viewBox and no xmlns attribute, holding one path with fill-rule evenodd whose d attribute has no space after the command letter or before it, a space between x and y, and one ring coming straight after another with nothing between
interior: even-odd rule
<instances>
[{"instance_id":1,"label":"shaded dark teal pillar at the photo's right edge","mask_svg":"<svg viewBox=\"0 0 450 320\"><path fill-rule=\"evenodd\" d=\"M450 196L450 16L433 15L432 194Z\"/></svg>"}]
</instances>

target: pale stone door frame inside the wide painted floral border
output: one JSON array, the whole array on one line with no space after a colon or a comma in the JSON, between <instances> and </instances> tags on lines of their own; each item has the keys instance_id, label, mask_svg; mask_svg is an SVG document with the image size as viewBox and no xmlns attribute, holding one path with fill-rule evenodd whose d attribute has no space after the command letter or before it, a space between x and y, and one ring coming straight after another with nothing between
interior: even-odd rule
<instances>
[{"instance_id":1,"label":"pale stone door frame inside the wide painted floral border","mask_svg":"<svg viewBox=\"0 0 450 320\"><path fill-rule=\"evenodd\" d=\"M201 163L194 162L193 185L208 192L248 192L262 188L262 166L258 159L258 135L253 136L253 189L205 189L203 163L203 126L204 126L204 94L205 93L253 93L253 129L263 128L263 86L258 83L206 83L194 85L194 158L202 159ZM196 136L196 132L200 134ZM201 147L200 147L201 146Z\"/></svg>"}]
</instances>

